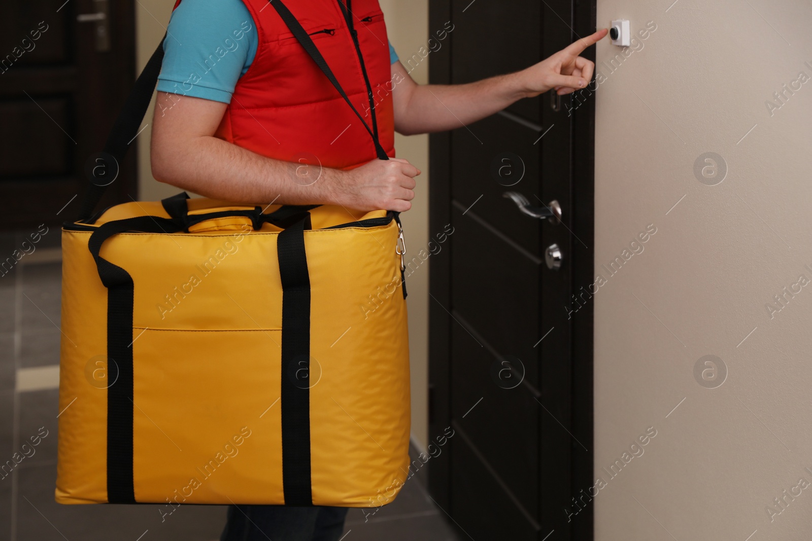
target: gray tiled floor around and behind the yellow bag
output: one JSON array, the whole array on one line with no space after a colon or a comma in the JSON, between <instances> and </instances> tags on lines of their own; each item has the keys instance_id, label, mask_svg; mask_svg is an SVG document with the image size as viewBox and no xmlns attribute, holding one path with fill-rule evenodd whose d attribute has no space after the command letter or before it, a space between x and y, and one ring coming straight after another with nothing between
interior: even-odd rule
<instances>
[{"instance_id":1,"label":"gray tiled floor around and behind the yellow bag","mask_svg":"<svg viewBox=\"0 0 812 541\"><path fill-rule=\"evenodd\" d=\"M0 247L4 239L0 235ZM6 238L7 240L7 238ZM54 502L58 390L15 391L19 368L58 364L58 261L15 266L0 277L0 464L40 427L48 430L13 473L0 476L0 541L213 541L225 522L222 506L182 506L162 522L158 505L58 505ZM344 541L456 541L419 472L397 499L370 513L350 509ZM143 536L143 537L141 537ZM274 539L274 541L284 541Z\"/></svg>"}]
</instances>

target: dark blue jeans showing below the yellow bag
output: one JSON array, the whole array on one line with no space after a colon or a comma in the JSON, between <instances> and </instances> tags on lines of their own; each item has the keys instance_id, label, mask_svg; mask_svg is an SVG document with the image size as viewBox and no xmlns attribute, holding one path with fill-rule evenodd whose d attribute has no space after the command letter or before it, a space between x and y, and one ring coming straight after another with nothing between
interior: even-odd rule
<instances>
[{"instance_id":1,"label":"dark blue jeans showing below the yellow bag","mask_svg":"<svg viewBox=\"0 0 812 541\"><path fill-rule=\"evenodd\" d=\"M346 507L229 505L220 541L338 541Z\"/></svg>"}]
</instances>

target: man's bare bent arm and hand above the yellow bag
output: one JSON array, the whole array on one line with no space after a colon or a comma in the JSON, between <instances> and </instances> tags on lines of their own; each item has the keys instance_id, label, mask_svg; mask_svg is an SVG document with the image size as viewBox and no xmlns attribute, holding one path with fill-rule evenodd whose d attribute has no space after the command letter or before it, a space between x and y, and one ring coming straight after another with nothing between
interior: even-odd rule
<instances>
[{"instance_id":1,"label":"man's bare bent arm and hand above the yellow bag","mask_svg":"<svg viewBox=\"0 0 812 541\"><path fill-rule=\"evenodd\" d=\"M150 149L153 177L243 204L339 204L395 211L412 206L412 177L420 171L408 161L373 160L343 171L263 157L214 137L226 107L219 101L158 92Z\"/></svg>"}]
</instances>

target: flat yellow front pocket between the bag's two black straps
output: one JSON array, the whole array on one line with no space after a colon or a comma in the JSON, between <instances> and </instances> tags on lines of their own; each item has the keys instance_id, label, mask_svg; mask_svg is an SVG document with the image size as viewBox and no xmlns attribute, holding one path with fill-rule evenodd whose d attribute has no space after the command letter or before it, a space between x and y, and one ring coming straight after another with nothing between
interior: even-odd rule
<instances>
[{"instance_id":1,"label":"flat yellow front pocket between the bag's two black straps","mask_svg":"<svg viewBox=\"0 0 812 541\"><path fill-rule=\"evenodd\" d=\"M133 329L136 501L283 503L281 335Z\"/></svg>"}]
</instances>

